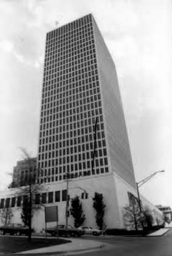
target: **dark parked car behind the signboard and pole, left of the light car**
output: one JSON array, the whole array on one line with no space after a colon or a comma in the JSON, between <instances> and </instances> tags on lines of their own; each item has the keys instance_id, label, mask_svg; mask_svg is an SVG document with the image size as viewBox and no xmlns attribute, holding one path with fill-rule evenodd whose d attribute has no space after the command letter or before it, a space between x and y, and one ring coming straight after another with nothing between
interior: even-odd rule
<instances>
[{"instance_id":1,"label":"dark parked car behind the signboard and pole, left of the light car","mask_svg":"<svg viewBox=\"0 0 172 256\"><path fill-rule=\"evenodd\" d=\"M46 231L52 236L57 236L57 227L49 227L47 228ZM68 234L69 236L83 236L84 231L78 228L72 227L71 225L68 225ZM65 225L58 225L58 235L59 236L67 235Z\"/></svg>"}]
</instances>

